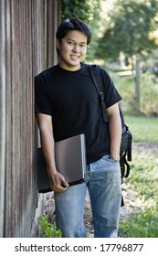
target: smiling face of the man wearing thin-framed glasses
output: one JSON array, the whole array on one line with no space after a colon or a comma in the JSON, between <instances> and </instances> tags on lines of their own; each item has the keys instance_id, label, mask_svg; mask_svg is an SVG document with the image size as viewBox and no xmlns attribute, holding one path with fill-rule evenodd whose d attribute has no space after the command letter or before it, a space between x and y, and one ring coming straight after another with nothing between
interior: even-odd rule
<instances>
[{"instance_id":1,"label":"smiling face of the man wearing thin-framed glasses","mask_svg":"<svg viewBox=\"0 0 158 256\"><path fill-rule=\"evenodd\" d=\"M62 69L76 71L87 53L88 37L78 30L71 30L62 40L57 39L58 64Z\"/></svg>"}]
</instances>

